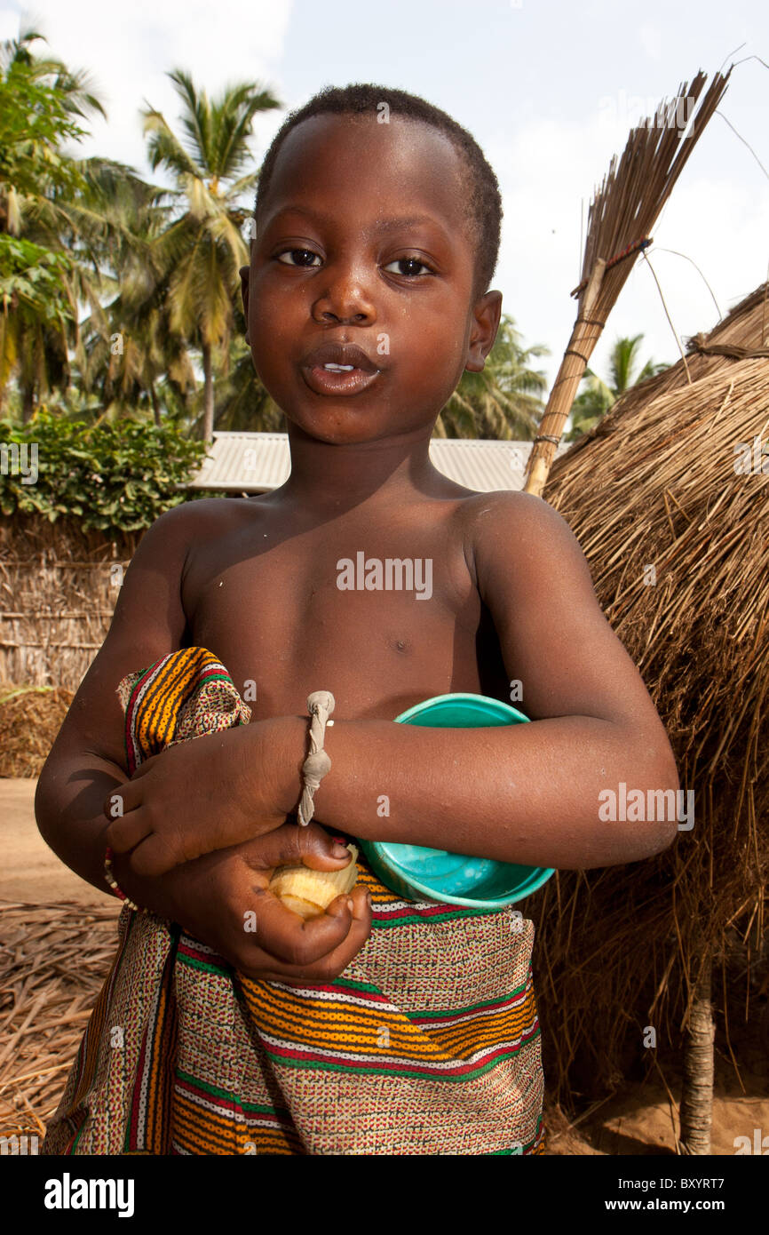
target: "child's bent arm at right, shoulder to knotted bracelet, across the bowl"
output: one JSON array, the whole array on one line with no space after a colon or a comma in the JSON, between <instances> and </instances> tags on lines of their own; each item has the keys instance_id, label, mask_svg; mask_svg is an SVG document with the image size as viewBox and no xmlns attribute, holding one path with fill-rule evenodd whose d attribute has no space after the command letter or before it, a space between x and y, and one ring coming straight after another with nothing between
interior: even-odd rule
<instances>
[{"instance_id":1,"label":"child's bent arm at right, shoulder to knotted bracelet, across the bowl","mask_svg":"<svg viewBox=\"0 0 769 1235\"><path fill-rule=\"evenodd\" d=\"M604 618L576 538L528 494L494 494L481 506L470 566L532 724L431 730L336 721L317 818L364 839L567 869L659 852L675 837L675 820L599 818L599 794L618 792L620 782L646 799L648 789L676 790L679 781L663 724ZM376 814L381 794L389 818Z\"/></svg>"}]
</instances>

